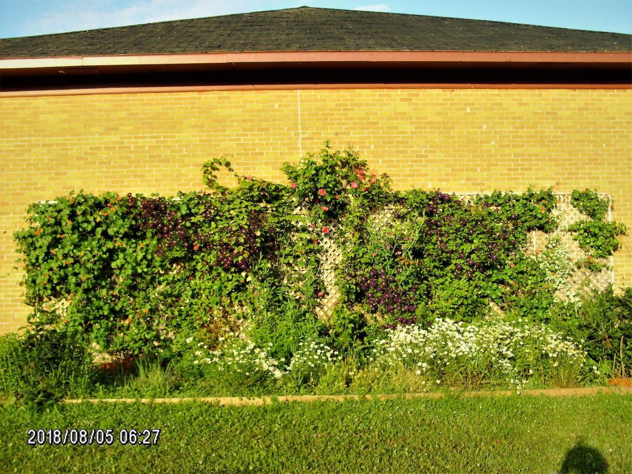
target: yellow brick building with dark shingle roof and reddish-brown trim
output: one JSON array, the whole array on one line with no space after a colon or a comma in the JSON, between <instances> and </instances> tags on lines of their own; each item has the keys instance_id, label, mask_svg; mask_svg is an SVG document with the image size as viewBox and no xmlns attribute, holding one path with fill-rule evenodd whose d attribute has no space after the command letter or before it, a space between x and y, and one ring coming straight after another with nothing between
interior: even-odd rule
<instances>
[{"instance_id":1,"label":"yellow brick building with dark shingle roof and reddish-brown trim","mask_svg":"<svg viewBox=\"0 0 632 474\"><path fill-rule=\"evenodd\" d=\"M204 188L353 143L399 188L597 188L632 225L632 35L301 7L0 40L0 332L12 233L71 190ZM632 238L616 286L632 285Z\"/></svg>"}]
</instances>

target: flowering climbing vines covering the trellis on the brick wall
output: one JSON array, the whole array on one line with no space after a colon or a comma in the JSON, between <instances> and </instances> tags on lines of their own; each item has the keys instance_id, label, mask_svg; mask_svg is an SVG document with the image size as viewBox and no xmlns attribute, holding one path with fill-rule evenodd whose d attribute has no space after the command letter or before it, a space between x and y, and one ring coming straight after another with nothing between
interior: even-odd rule
<instances>
[{"instance_id":1,"label":"flowering climbing vines covering the trellis on the brick wall","mask_svg":"<svg viewBox=\"0 0 632 474\"><path fill-rule=\"evenodd\" d=\"M224 171L234 188L219 185ZM471 321L488 315L490 303L542 319L568 289L573 263L561 246L536 258L523 252L530 232L557 228L551 189L471 198L393 191L387 174L328 142L283 171L287 184L270 183L240 176L221 157L202 166L206 191L79 191L31 205L15 238L32 319L76 327L103 349L129 354L178 351L191 331L211 345L245 326L260 338L297 325L325 331L314 315L327 293L324 240L341 251L331 329L340 334L362 332L351 327L358 314L383 327ZM578 191L575 205L602 216L601 201L585 195ZM385 209L391 218L375 226ZM593 220L569 230L597 258L619 248L625 227ZM52 307L59 300L64 312Z\"/></svg>"}]
</instances>

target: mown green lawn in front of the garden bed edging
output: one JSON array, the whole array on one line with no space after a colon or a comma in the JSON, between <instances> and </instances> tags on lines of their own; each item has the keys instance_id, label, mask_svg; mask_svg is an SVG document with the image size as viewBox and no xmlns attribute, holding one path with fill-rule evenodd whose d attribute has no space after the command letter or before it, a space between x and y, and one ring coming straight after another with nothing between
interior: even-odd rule
<instances>
[{"instance_id":1,"label":"mown green lawn in front of the garden bed edging","mask_svg":"<svg viewBox=\"0 0 632 474\"><path fill-rule=\"evenodd\" d=\"M0 408L0 472L632 471L632 397ZM160 428L156 446L28 446L28 428ZM571 469L575 466L575 470Z\"/></svg>"}]
</instances>

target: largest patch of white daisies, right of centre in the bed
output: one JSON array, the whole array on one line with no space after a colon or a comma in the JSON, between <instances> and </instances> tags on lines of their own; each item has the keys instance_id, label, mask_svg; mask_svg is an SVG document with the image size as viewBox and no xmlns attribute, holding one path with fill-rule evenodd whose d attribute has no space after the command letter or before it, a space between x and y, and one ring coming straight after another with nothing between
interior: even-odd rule
<instances>
[{"instance_id":1,"label":"largest patch of white daisies, right of centre in the bed","mask_svg":"<svg viewBox=\"0 0 632 474\"><path fill-rule=\"evenodd\" d=\"M417 375L427 377L458 371L500 376L518 389L534 368L556 368L560 363L580 368L585 358L581 347L545 325L504 321L465 325L437 319L427 329L399 326L388 330L387 338L377 341L374 348L378 365L403 363Z\"/></svg>"}]
</instances>

